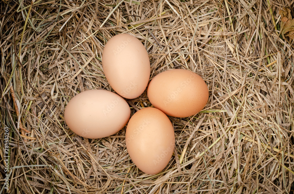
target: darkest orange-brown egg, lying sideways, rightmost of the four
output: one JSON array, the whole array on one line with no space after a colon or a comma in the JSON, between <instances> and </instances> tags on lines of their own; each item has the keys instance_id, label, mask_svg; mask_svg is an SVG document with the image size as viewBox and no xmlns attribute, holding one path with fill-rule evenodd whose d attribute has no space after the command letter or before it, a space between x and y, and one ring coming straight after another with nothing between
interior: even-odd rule
<instances>
[{"instance_id":1,"label":"darkest orange-brown egg, lying sideways, rightmost of the four","mask_svg":"<svg viewBox=\"0 0 294 194\"><path fill-rule=\"evenodd\" d=\"M156 75L149 83L150 103L167 115L189 117L199 113L208 101L208 87L196 73L171 69Z\"/></svg>"}]
</instances>

